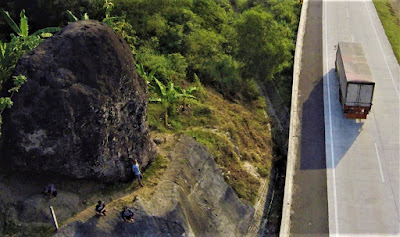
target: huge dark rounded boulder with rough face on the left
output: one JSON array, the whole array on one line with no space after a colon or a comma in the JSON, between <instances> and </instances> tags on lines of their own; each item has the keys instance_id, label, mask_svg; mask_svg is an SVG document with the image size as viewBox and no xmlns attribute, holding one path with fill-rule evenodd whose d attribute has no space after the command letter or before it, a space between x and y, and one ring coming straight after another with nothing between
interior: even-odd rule
<instances>
[{"instance_id":1,"label":"huge dark rounded boulder with rough face on the left","mask_svg":"<svg viewBox=\"0 0 400 237\"><path fill-rule=\"evenodd\" d=\"M146 84L107 25L79 21L24 55L28 81L4 116L2 162L19 171L127 180L154 157Z\"/></svg>"}]
</instances>

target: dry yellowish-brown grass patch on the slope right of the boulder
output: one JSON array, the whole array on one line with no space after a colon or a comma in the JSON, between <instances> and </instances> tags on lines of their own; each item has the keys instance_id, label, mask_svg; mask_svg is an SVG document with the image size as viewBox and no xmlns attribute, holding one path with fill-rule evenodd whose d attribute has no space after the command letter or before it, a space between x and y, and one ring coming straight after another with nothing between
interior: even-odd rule
<instances>
[{"instance_id":1,"label":"dry yellowish-brown grass patch on the slope right of the boulder","mask_svg":"<svg viewBox=\"0 0 400 237\"><path fill-rule=\"evenodd\" d=\"M165 128L157 104L148 109L151 129L164 133L186 133L195 137L215 156L225 180L237 195L254 204L260 179L251 175L243 162L251 163L260 177L268 179L273 159L271 128L262 97L247 104L225 100L207 89L198 101L186 100L170 111Z\"/></svg>"}]
</instances>

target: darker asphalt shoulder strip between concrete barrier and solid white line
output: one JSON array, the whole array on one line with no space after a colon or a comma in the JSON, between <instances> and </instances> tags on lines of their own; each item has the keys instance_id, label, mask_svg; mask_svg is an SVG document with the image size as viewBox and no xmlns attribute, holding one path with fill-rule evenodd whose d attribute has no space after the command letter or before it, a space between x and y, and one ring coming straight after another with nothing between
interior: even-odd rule
<instances>
[{"instance_id":1,"label":"darker asphalt shoulder strip between concrete barrier and solid white line","mask_svg":"<svg viewBox=\"0 0 400 237\"><path fill-rule=\"evenodd\" d=\"M329 231L321 35L322 0L311 0L299 77L301 138L293 176L291 236L327 236Z\"/></svg>"}]
</instances>

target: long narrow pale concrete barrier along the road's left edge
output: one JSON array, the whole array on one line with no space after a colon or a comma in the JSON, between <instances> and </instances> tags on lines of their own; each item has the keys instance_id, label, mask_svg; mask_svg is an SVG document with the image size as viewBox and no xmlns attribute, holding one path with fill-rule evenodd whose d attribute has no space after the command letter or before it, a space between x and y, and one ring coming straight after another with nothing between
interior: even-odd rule
<instances>
[{"instance_id":1,"label":"long narrow pale concrete barrier along the road's left edge","mask_svg":"<svg viewBox=\"0 0 400 237\"><path fill-rule=\"evenodd\" d=\"M303 39L307 18L309 0L304 0L301 8L299 28L297 31L296 51L294 54L292 104L290 108L289 146L286 164L285 194L283 197L283 209L281 229L279 235L286 237L290 235L290 214L292 209L293 176L295 172L296 159L299 157L300 145L300 114L298 110L299 76L301 68L301 56L303 50Z\"/></svg>"}]
</instances>

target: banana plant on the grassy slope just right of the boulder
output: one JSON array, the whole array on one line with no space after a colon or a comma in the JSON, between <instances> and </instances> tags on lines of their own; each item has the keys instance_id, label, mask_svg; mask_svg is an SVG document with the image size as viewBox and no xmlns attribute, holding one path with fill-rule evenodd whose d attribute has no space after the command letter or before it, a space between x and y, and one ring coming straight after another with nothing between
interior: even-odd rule
<instances>
[{"instance_id":1,"label":"banana plant on the grassy slope just right of the boulder","mask_svg":"<svg viewBox=\"0 0 400 237\"><path fill-rule=\"evenodd\" d=\"M191 95L196 91L196 87L190 87L188 90L182 89L180 86L175 86L172 81L169 81L168 85L164 85L157 78L154 78L156 86L154 87L155 96L150 98L150 102L160 102L164 110L164 123L165 127L169 127L168 124L168 111L174 106L180 98L197 98Z\"/></svg>"}]
</instances>

